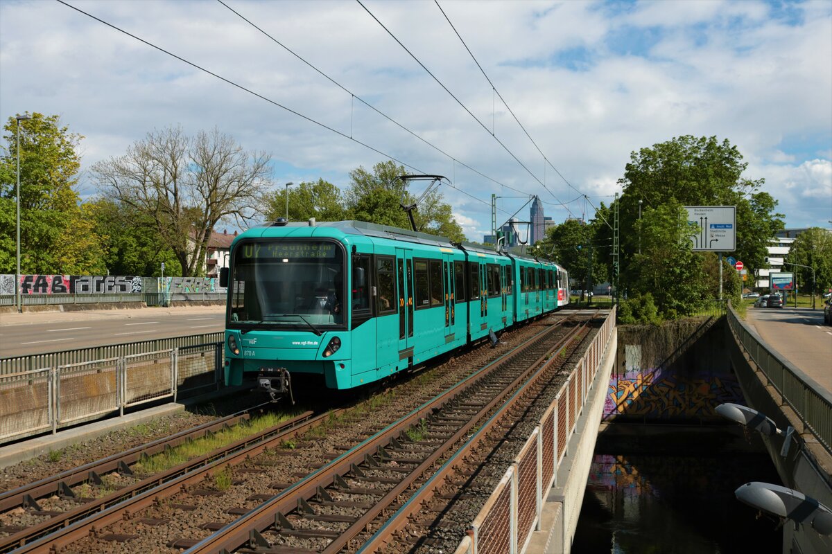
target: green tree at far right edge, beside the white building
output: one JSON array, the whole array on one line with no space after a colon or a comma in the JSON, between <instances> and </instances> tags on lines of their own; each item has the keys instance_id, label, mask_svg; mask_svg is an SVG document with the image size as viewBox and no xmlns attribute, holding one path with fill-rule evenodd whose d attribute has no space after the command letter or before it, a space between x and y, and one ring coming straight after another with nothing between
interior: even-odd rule
<instances>
[{"instance_id":1,"label":"green tree at far right edge, beside the white building","mask_svg":"<svg viewBox=\"0 0 832 554\"><path fill-rule=\"evenodd\" d=\"M794 272L800 290L810 291L812 269L815 270L815 294L832 288L832 233L824 228L812 227L800 233L785 257L784 271ZM800 265L790 266L789 263ZM802 267L806 266L806 267Z\"/></svg>"}]
</instances>

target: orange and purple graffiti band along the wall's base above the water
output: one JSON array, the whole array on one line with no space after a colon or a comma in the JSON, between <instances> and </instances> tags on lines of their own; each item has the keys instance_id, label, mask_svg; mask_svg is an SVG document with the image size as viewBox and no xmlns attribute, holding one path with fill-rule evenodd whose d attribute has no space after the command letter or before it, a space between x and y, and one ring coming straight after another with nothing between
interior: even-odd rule
<instances>
[{"instance_id":1,"label":"orange and purple graffiti band along the wall's base above the water","mask_svg":"<svg viewBox=\"0 0 832 554\"><path fill-rule=\"evenodd\" d=\"M712 419L723 402L742 399L734 375L676 375L671 371L627 371L613 375L604 419Z\"/></svg>"}]
</instances>

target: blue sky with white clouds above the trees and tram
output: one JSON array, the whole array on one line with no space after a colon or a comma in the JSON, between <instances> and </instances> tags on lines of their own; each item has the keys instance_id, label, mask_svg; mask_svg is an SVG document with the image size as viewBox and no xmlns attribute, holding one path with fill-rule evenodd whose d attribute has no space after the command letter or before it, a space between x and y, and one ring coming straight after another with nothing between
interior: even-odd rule
<instances>
[{"instance_id":1,"label":"blue sky with white clouds above the trees and tram","mask_svg":"<svg viewBox=\"0 0 832 554\"><path fill-rule=\"evenodd\" d=\"M829 0L66 2L237 85L60 2L0 0L0 117L60 115L84 168L168 125L270 152L280 186L389 157L447 176L479 241L491 194L498 223L522 194L591 218L633 150L716 135L788 227L832 225Z\"/></svg>"}]
</instances>

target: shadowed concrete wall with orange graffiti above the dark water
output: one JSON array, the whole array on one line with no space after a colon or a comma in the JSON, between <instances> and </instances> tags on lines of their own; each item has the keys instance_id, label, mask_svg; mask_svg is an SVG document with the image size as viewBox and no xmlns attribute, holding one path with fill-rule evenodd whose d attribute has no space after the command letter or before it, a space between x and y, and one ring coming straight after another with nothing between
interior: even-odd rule
<instances>
[{"instance_id":1,"label":"shadowed concrete wall with orange graffiti above the dark water","mask_svg":"<svg viewBox=\"0 0 832 554\"><path fill-rule=\"evenodd\" d=\"M722 324L701 331L660 326L619 327L617 369L607 389L604 419L638 421L721 420L724 402L744 404L724 344Z\"/></svg>"}]
</instances>

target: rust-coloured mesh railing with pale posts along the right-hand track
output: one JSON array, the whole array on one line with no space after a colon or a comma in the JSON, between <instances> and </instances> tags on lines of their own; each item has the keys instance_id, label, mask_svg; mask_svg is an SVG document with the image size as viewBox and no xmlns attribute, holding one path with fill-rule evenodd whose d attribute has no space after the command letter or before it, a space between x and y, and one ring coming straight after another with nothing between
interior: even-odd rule
<instances>
[{"instance_id":1,"label":"rust-coloured mesh railing with pale posts along the right-hand track","mask_svg":"<svg viewBox=\"0 0 832 554\"><path fill-rule=\"evenodd\" d=\"M557 484L557 469L567 454L592 382L615 326L613 307L581 360L543 412L537 427L514 458L497 488L474 518L455 554L516 554L525 552L532 532L540 531L542 506ZM606 383L605 383L606 385ZM580 503L577 503L580 506ZM565 528L574 527L578 513L563 513Z\"/></svg>"}]
</instances>

